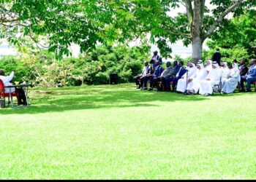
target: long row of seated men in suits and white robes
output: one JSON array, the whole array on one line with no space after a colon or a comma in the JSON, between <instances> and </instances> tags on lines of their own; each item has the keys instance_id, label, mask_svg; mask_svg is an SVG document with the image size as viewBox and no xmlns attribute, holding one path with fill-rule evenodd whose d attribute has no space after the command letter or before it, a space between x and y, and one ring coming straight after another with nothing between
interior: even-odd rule
<instances>
[{"instance_id":1,"label":"long row of seated men in suits and white robes","mask_svg":"<svg viewBox=\"0 0 256 182\"><path fill-rule=\"evenodd\" d=\"M251 92L251 83L256 81L256 60L250 61L249 69L246 71L245 61L241 60L240 66L233 63L229 68L226 61L222 61L219 65L217 62L206 61L206 67L203 66L202 60L195 63L184 63L175 61L173 66L170 62L166 63L165 69L156 61L155 66L150 66L148 62L144 63L143 72L135 76L135 83L141 90L153 90L153 86L158 91L170 91L170 83L173 88L176 87L177 92L183 92L194 95L197 92L201 95L211 95L214 85L218 85L219 92L232 93L241 83L241 91L244 90L244 82L246 92ZM151 62L152 64L152 62ZM147 83L150 82L149 89ZM173 89L174 91L174 89Z\"/></svg>"}]
</instances>

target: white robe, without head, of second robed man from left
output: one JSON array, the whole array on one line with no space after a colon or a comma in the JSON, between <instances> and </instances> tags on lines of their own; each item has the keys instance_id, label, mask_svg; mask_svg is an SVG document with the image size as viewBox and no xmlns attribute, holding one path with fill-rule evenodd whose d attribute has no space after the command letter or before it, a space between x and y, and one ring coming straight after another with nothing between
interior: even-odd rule
<instances>
[{"instance_id":1,"label":"white robe, without head, of second robed man from left","mask_svg":"<svg viewBox=\"0 0 256 182\"><path fill-rule=\"evenodd\" d=\"M193 79L189 84L187 85L187 90L194 90L194 93L197 93L200 87L200 82L202 80L205 80L207 76L207 71L204 68L201 68L200 70L197 69L197 73L195 75L195 79Z\"/></svg>"}]
</instances>

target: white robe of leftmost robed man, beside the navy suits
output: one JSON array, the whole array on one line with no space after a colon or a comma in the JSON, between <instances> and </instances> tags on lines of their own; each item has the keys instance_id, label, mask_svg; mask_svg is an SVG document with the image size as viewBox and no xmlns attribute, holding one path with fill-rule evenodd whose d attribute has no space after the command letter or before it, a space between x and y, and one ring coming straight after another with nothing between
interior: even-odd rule
<instances>
[{"instance_id":1,"label":"white robe of leftmost robed man, beside the navy suits","mask_svg":"<svg viewBox=\"0 0 256 182\"><path fill-rule=\"evenodd\" d=\"M185 92L187 90L187 78L188 79L194 79L195 75L197 73L197 68L195 67L195 64L192 64L192 68L188 69L188 73L184 74L181 79L178 79L177 84L177 91L178 92Z\"/></svg>"}]
</instances>

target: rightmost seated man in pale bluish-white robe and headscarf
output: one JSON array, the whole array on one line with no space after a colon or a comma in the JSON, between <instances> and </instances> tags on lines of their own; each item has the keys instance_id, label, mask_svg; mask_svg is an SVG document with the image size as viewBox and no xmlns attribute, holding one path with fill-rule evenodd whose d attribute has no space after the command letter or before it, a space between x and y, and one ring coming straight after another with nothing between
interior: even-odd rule
<instances>
[{"instance_id":1,"label":"rightmost seated man in pale bluish-white robe and headscarf","mask_svg":"<svg viewBox=\"0 0 256 182\"><path fill-rule=\"evenodd\" d=\"M240 81L240 71L236 63L232 64L230 75L227 76L224 82L222 82L222 92L233 93L236 89L238 82Z\"/></svg>"}]
</instances>

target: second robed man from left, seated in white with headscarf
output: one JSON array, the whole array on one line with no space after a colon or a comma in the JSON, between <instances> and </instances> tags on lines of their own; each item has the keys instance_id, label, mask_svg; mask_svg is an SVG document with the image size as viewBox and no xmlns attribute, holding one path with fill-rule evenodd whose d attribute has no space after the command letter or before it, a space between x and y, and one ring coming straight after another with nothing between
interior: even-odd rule
<instances>
[{"instance_id":1,"label":"second robed man from left, seated in white with headscarf","mask_svg":"<svg viewBox=\"0 0 256 182\"><path fill-rule=\"evenodd\" d=\"M206 79L206 76L207 76L207 72L206 72L206 69L203 68L203 61L199 60L197 63L197 71L195 74L195 79L190 78L188 80L187 94L188 95L196 94L199 90L200 82Z\"/></svg>"}]
</instances>

